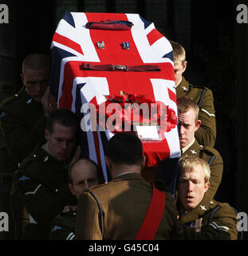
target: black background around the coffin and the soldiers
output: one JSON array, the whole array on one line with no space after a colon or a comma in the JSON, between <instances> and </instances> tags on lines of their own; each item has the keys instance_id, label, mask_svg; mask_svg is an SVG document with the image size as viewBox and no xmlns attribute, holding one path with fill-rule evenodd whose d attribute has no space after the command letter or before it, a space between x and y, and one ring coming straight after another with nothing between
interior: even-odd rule
<instances>
[{"instance_id":1,"label":"black background around the coffin and the soldiers","mask_svg":"<svg viewBox=\"0 0 248 256\"><path fill-rule=\"evenodd\" d=\"M49 54L57 23L65 12L140 14L167 39L187 52L184 76L208 86L214 94L217 120L215 148L224 162L216 199L248 213L247 170L247 41L248 24L238 24L239 3L197 0L3 0L9 23L0 24L0 101L22 86L22 61L27 54ZM1 10L0 10L1 11ZM0 150L2 140L0 139ZM8 196L15 166L0 152L0 212L10 213ZM3 234L11 239L10 232Z\"/></svg>"}]
</instances>

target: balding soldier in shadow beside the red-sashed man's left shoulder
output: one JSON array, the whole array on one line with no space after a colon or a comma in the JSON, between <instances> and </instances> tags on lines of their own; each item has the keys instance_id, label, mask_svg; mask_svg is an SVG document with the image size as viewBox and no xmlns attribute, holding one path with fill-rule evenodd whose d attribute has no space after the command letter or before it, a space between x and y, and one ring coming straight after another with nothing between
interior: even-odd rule
<instances>
[{"instance_id":1,"label":"balding soldier in shadow beside the red-sashed man's left shoulder","mask_svg":"<svg viewBox=\"0 0 248 256\"><path fill-rule=\"evenodd\" d=\"M69 190L77 199L85 190L103 182L100 170L96 163L90 159L77 160L69 168ZM76 236L77 206L65 206L63 212L52 222L50 239L74 240Z\"/></svg>"}]
</instances>

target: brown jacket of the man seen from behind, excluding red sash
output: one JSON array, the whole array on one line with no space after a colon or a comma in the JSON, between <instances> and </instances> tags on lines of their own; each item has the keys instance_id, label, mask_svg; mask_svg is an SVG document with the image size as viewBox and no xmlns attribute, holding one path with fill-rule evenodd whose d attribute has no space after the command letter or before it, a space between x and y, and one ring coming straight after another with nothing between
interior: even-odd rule
<instances>
[{"instance_id":1,"label":"brown jacket of the man seen from behind, excluding red sash","mask_svg":"<svg viewBox=\"0 0 248 256\"><path fill-rule=\"evenodd\" d=\"M165 190L162 182L155 182ZM89 192L81 194L77 204L77 239L126 240L135 239L152 200L152 183L140 174L124 174L111 182L95 186L92 191L103 211L103 234L100 229L100 210ZM177 212L171 197L166 194L166 205L155 239L169 239L177 225Z\"/></svg>"}]
</instances>

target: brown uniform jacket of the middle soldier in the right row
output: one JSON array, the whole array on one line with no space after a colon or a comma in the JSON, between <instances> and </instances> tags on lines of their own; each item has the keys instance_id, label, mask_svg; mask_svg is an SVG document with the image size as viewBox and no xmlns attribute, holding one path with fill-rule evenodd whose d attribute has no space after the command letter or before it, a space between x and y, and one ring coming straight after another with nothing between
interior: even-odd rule
<instances>
[{"instance_id":1,"label":"brown uniform jacket of the middle soldier in the right row","mask_svg":"<svg viewBox=\"0 0 248 256\"><path fill-rule=\"evenodd\" d=\"M197 140L195 140L193 145L189 149L187 149L181 155L181 157L184 157L186 155L202 158L210 165L210 187L206 192L206 197L209 199L214 198L218 186L222 180L223 161L221 155L211 146L199 145Z\"/></svg>"}]
</instances>

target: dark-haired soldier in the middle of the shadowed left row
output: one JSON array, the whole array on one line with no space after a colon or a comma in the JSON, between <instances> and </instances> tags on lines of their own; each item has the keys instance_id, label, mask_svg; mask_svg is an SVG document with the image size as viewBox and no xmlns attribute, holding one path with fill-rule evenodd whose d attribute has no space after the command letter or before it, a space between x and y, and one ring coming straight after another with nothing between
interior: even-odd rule
<instances>
[{"instance_id":1,"label":"dark-haired soldier in the middle of the shadowed left row","mask_svg":"<svg viewBox=\"0 0 248 256\"><path fill-rule=\"evenodd\" d=\"M77 117L70 110L50 114L45 130L46 142L37 145L14 175L14 194L19 194L29 214L25 239L48 239L53 218L65 206L77 204L68 187L68 167L80 154L77 147ZM14 196L14 195L13 195ZM13 209L18 209L13 202Z\"/></svg>"}]
</instances>

